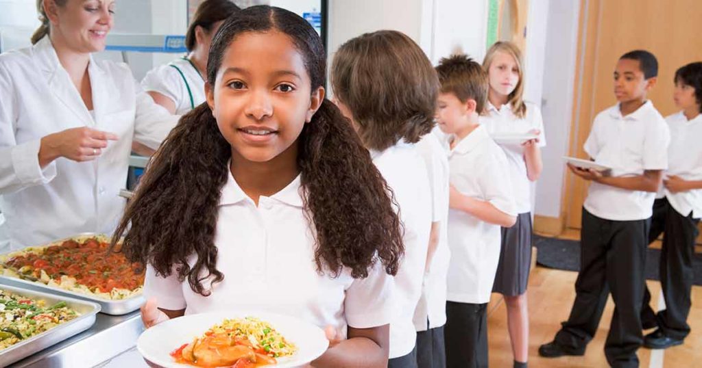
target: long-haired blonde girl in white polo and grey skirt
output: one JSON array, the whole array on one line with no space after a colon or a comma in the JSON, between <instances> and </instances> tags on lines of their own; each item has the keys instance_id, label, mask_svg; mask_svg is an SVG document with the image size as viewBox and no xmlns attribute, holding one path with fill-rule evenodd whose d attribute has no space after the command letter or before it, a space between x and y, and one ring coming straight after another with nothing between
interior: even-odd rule
<instances>
[{"instance_id":1,"label":"long-haired blonde girl in white polo and grey skirt","mask_svg":"<svg viewBox=\"0 0 702 368\"><path fill-rule=\"evenodd\" d=\"M523 100L524 62L519 48L514 43L496 42L485 54L483 67L490 89L487 111L480 116L480 123L494 138L501 135L534 137L500 145L507 156L518 215L515 225L502 229L502 252L492 289L505 298L514 367L524 368L529 357L527 284L531 268L531 183L541 175L541 148L546 140L541 111L536 104Z\"/></svg>"}]
</instances>

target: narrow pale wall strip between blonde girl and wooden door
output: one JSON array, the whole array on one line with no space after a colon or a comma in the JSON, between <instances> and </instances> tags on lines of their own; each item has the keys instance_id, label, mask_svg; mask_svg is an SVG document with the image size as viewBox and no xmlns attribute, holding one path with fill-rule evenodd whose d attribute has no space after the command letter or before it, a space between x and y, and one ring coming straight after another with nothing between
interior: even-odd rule
<instances>
[{"instance_id":1,"label":"narrow pale wall strip between blonde girl and wooden door","mask_svg":"<svg viewBox=\"0 0 702 368\"><path fill-rule=\"evenodd\" d=\"M535 1L532 1L532 3ZM553 0L548 8L543 74L543 122L548 145L536 188L536 214L559 217L573 111L580 0Z\"/></svg>"}]
</instances>

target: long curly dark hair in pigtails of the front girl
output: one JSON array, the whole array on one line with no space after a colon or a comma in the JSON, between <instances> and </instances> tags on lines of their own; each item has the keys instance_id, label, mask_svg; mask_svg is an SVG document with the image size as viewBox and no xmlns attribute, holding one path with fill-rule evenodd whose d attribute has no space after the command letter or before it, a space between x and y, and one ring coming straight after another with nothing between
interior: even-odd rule
<instances>
[{"instance_id":1,"label":"long curly dark hair in pigtails of the front girl","mask_svg":"<svg viewBox=\"0 0 702 368\"><path fill-rule=\"evenodd\" d=\"M326 56L317 32L298 15L270 6L246 8L220 27L210 49L208 83L214 85L234 37L272 29L288 35L303 55L312 90L323 86ZM350 122L324 100L297 144L303 211L317 235L317 272L336 277L347 267L354 278L365 278L380 261L395 275L404 253L397 203ZM178 280L187 278L194 292L207 296L201 281L225 277L216 268L214 239L230 157L230 144L208 104L183 116L154 155L112 246L124 236L121 249L130 261L151 264L159 275L177 272ZM187 258L193 254L191 267Z\"/></svg>"}]
</instances>

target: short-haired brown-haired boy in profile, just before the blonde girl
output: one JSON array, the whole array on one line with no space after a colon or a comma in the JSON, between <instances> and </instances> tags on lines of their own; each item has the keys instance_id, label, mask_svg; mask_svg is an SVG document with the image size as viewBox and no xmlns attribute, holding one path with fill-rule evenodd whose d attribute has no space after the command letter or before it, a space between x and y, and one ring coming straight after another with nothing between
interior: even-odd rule
<instances>
[{"instance_id":1,"label":"short-haired brown-haired boy in profile, just before the blonde girl","mask_svg":"<svg viewBox=\"0 0 702 368\"><path fill-rule=\"evenodd\" d=\"M479 124L487 76L465 55L442 59L439 128L449 139L449 262L446 367L486 367L486 308L501 252L500 226L515 224L505 153Z\"/></svg>"}]
</instances>

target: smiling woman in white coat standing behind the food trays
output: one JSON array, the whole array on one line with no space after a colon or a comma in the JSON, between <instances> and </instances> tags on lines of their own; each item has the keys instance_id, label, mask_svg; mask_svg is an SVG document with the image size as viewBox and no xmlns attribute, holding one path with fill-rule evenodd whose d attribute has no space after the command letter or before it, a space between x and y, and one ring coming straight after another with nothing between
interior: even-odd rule
<instances>
[{"instance_id":1,"label":"smiling woman in white coat standing behind the food trays","mask_svg":"<svg viewBox=\"0 0 702 368\"><path fill-rule=\"evenodd\" d=\"M37 0L33 46L0 55L0 211L11 249L110 234L132 140L152 149L178 116L126 64L98 61L114 0Z\"/></svg>"}]
</instances>

